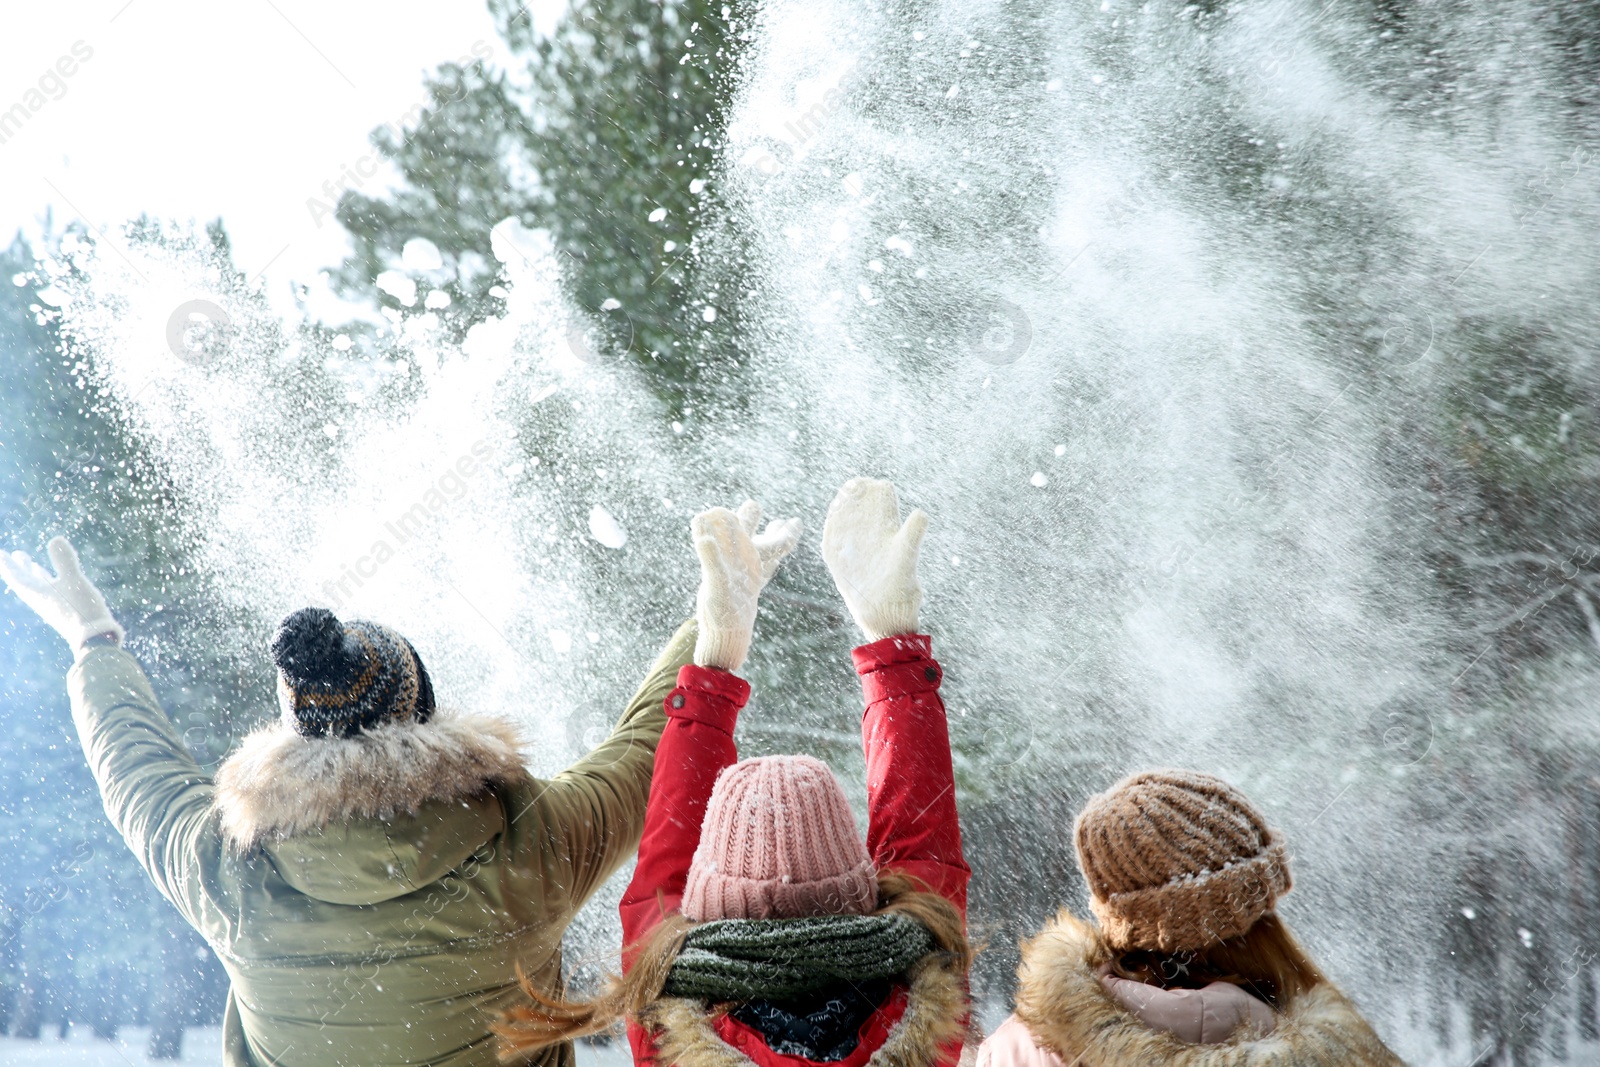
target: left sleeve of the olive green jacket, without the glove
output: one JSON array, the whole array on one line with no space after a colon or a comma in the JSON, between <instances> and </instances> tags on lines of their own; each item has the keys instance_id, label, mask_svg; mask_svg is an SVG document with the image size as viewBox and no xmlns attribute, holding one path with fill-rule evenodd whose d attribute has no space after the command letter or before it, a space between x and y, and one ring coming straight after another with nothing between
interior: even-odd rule
<instances>
[{"instance_id":1,"label":"left sleeve of the olive green jacket, without the glove","mask_svg":"<svg viewBox=\"0 0 1600 1067\"><path fill-rule=\"evenodd\" d=\"M139 662L93 648L67 672L72 721L112 825L155 888L202 926L206 873L222 840L211 821L211 776L184 747Z\"/></svg>"}]
</instances>

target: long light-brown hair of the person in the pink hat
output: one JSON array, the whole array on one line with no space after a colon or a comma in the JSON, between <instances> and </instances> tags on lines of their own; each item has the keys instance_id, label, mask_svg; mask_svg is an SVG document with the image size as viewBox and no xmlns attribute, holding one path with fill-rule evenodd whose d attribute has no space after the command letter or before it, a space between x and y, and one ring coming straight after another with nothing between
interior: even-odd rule
<instances>
[{"instance_id":1,"label":"long light-brown hair of the person in the pink hat","mask_svg":"<svg viewBox=\"0 0 1600 1067\"><path fill-rule=\"evenodd\" d=\"M928 928L946 969L965 974L971 966L973 950L960 912L938 893L930 893L922 881L899 872L878 875L878 907L874 915L891 913L909 915ZM634 966L626 974L608 979L589 1000L550 997L536 989L518 968L517 979L528 1000L507 1009L493 1027L494 1032L504 1040L507 1053L533 1053L547 1045L610 1030L622 1019L637 1022L640 1013L661 997L667 971L694 926L678 912L667 915L630 947Z\"/></svg>"}]
</instances>

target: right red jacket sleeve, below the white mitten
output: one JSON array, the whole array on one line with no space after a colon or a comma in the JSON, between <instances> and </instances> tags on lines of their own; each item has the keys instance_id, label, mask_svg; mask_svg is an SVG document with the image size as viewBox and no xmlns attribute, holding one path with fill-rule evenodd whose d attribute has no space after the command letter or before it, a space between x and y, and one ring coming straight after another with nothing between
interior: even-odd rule
<instances>
[{"instance_id":1,"label":"right red jacket sleeve, below the white mitten","mask_svg":"<svg viewBox=\"0 0 1600 1067\"><path fill-rule=\"evenodd\" d=\"M933 641L886 637L853 653L866 694L861 744L867 757L867 853L878 870L899 870L966 915L971 870L962 857L955 769Z\"/></svg>"}]
</instances>

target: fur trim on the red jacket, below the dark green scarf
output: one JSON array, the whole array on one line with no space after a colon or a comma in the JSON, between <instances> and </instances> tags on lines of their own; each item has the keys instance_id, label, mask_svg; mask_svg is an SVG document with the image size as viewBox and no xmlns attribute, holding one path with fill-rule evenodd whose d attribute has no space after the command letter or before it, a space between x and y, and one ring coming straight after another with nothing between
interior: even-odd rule
<instances>
[{"instance_id":1,"label":"fur trim on the red jacket, below the dark green scarf","mask_svg":"<svg viewBox=\"0 0 1600 1067\"><path fill-rule=\"evenodd\" d=\"M966 987L944 968L939 955L923 957L910 969L906 1014L890 1030L866 1067L933 1067L942 1049L966 1032ZM712 1027L706 1003L662 997L640 1013L656 1035L656 1062L664 1067L754 1067Z\"/></svg>"}]
</instances>

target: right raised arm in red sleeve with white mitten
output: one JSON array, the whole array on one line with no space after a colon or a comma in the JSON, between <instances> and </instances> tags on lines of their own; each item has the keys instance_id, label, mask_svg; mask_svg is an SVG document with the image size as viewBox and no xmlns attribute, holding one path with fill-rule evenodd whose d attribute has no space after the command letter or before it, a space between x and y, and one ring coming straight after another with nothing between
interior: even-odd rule
<instances>
[{"instance_id":1,"label":"right raised arm in red sleeve with white mitten","mask_svg":"<svg viewBox=\"0 0 1600 1067\"><path fill-rule=\"evenodd\" d=\"M894 486L853 478L834 498L822 558L867 638L854 651L867 710L867 851L880 870L909 873L966 913L971 870L962 856L950 733L939 699L944 672L917 633L917 557L928 517L899 518Z\"/></svg>"}]
</instances>

